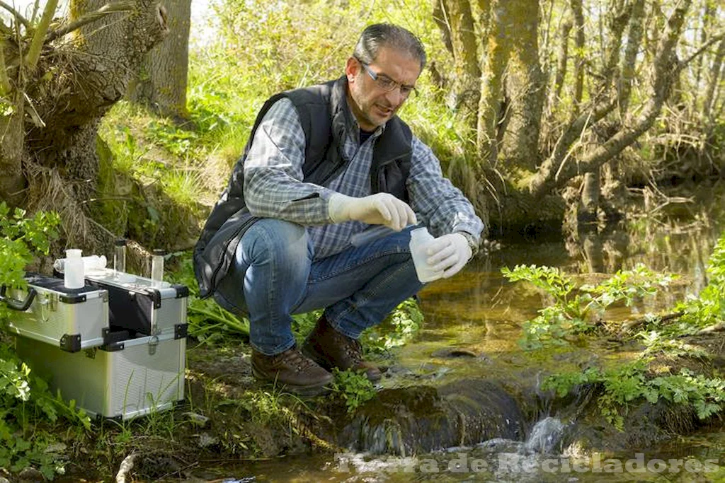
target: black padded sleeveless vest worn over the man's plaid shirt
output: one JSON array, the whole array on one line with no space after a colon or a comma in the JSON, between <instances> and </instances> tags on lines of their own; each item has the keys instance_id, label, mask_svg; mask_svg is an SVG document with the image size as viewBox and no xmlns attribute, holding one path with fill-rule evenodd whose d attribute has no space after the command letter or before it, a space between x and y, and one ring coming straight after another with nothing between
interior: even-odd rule
<instances>
[{"instance_id":1,"label":"black padded sleeveless vest worn over the man's plaid shirt","mask_svg":"<svg viewBox=\"0 0 725 483\"><path fill-rule=\"evenodd\" d=\"M228 272L242 235L257 221L244 202L244 160L262 118L280 98L292 101L302 130L305 132L305 163L303 180L326 185L347 166L342 143L346 129L347 78L341 77L321 85L295 89L269 98L257 114L244 154L231 173L229 184L204 224L202 235L194 247L194 273L199 282L199 295L206 298ZM405 183L410 172L413 135L398 117L390 119L383 133L375 140L370 167L371 193L391 193L408 201Z\"/></svg>"}]
</instances>

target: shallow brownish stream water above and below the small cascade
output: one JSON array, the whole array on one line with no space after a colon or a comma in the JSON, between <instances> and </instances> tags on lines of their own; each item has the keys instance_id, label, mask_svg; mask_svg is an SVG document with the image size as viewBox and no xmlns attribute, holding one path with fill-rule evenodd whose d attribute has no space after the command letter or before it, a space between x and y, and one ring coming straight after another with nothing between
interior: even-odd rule
<instances>
[{"instance_id":1,"label":"shallow brownish stream water above and below the small cascade","mask_svg":"<svg viewBox=\"0 0 725 483\"><path fill-rule=\"evenodd\" d=\"M638 263L680 274L681 282L673 290L634 306L635 312L644 314L671 307L706 284L705 266L720 227L703 214L688 222L642 218L603 235L582 235L563 242L560 233L539 232L521 243L504 245L477 259L463 274L434 282L421 292L425 326L413 343L395 351L395 362L389 368L394 375L384 379L383 386L443 385L486 377L515 391L519 383L526 386L525 381L531 387L531 380L538 382L542 372L552 366L581 366L587 357L626 358L626 351L606 343L545 355L521 350L521 322L533 318L545 301L534 291L505 280L501 268L558 266L595 281ZM629 308L626 310L629 314ZM493 438L415 456L351 450L278 458L225 466L210 470L210 476L228 482L725 481L721 468L725 467L725 434L716 429L703 429L634 453L580 453L560 444L571 424L558 416L551 408L539 408L534 416L529 415L532 419L521 438Z\"/></svg>"}]
</instances>

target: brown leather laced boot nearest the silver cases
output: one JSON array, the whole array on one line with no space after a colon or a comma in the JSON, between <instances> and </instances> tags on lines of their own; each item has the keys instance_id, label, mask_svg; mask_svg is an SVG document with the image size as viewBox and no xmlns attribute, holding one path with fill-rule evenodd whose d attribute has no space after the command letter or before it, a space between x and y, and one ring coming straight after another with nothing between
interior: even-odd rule
<instances>
[{"instance_id":1,"label":"brown leather laced boot nearest the silver cases","mask_svg":"<svg viewBox=\"0 0 725 483\"><path fill-rule=\"evenodd\" d=\"M297 347L274 356L252 350L252 374L260 381L273 382L303 396L327 392L325 386L333 379L332 374L303 356Z\"/></svg>"}]
</instances>

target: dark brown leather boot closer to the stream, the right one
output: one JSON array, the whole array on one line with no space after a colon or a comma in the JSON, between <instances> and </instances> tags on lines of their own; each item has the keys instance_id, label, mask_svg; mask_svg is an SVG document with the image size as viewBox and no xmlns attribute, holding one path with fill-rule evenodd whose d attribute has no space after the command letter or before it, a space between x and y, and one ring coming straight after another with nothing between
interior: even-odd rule
<instances>
[{"instance_id":1,"label":"dark brown leather boot closer to the stream, the right one","mask_svg":"<svg viewBox=\"0 0 725 483\"><path fill-rule=\"evenodd\" d=\"M363 361L363 348L355 339L337 332L323 315L302 344L302 353L328 371L365 371L370 382L379 381L380 369Z\"/></svg>"}]
</instances>

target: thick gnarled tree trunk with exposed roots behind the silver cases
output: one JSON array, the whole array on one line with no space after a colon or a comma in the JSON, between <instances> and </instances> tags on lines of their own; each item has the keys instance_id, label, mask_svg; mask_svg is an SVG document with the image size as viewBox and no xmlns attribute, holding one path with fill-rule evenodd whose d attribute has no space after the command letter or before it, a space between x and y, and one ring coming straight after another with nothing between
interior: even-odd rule
<instances>
[{"instance_id":1,"label":"thick gnarled tree trunk with exposed roots behind the silver cases","mask_svg":"<svg viewBox=\"0 0 725 483\"><path fill-rule=\"evenodd\" d=\"M49 32L46 38L55 40L46 44L36 70L27 74L25 93L19 93L27 95L33 114L26 116L21 140L14 143L15 152L20 145L28 153L25 206L61 212L67 239L77 235L75 227L87 227L78 241L85 248L107 245L113 238L87 216L97 196L99 122L125 94L129 72L167 31L154 0L118 1L115 7L121 11L104 7L105 13L98 14L106 4L107 0L71 1L70 17L62 26L80 26L62 35ZM97 14L91 15L94 21L88 20L91 12Z\"/></svg>"}]
</instances>

